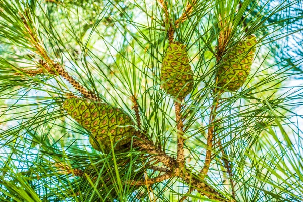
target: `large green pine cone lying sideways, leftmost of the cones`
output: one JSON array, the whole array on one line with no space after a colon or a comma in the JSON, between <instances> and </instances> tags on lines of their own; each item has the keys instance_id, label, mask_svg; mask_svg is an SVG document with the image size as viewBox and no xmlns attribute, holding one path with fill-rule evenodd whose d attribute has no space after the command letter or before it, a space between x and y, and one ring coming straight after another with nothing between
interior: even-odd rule
<instances>
[{"instance_id":1,"label":"large green pine cone lying sideways, leftmost of the cones","mask_svg":"<svg viewBox=\"0 0 303 202\"><path fill-rule=\"evenodd\" d=\"M91 132L93 137L89 137L89 142L98 151L109 153L112 148L111 141L115 150L125 148L135 132L133 127L126 126L134 125L126 112L112 105L89 99L71 98L63 102L63 108ZM121 139L122 137L125 138Z\"/></svg>"}]
</instances>

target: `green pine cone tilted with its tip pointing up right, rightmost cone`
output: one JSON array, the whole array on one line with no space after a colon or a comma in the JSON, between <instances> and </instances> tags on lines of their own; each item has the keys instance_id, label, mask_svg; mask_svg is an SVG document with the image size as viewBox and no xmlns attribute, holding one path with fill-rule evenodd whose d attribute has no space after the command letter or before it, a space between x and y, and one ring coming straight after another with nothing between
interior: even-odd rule
<instances>
[{"instance_id":1,"label":"green pine cone tilted with its tip pointing up right, rightmost cone","mask_svg":"<svg viewBox=\"0 0 303 202\"><path fill-rule=\"evenodd\" d=\"M245 83L254 60L256 43L254 35L247 36L223 56L216 71L218 86L236 91Z\"/></svg>"}]
</instances>

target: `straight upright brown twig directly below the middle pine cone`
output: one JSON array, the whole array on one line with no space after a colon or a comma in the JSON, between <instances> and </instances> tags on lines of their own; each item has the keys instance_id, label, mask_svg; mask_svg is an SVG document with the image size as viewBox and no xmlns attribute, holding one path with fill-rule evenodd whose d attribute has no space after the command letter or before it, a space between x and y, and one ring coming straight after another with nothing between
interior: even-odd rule
<instances>
[{"instance_id":1,"label":"straight upright brown twig directly below the middle pine cone","mask_svg":"<svg viewBox=\"0 0 303 202\"><path fill-rule=\"evenodd\" d=\"M176 122L177 122L177 163L178 167L183 168L185 164L184 158L184 136L183 136L183 121L181 119L181 103L175 102Z\"/></svg>"}]
</instances>

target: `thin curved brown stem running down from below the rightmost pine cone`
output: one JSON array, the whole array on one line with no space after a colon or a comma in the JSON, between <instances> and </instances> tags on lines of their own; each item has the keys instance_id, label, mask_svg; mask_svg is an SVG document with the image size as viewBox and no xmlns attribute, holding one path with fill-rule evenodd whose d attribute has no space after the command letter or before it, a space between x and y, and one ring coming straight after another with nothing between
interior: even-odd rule
<instances>
[{"instance_id":1,"label":"thin curved brown stem running down from below the rightmost pine cone","mask_svg":"<svg viewBox=\"0 0 303 202\"><path fill-rule=\"evenodd\" d=\"M207 133L207 150L206 150L206 155L205 155L204 166L201 170L201 174L203 177L205 177L207 175L209 168L210 168L212 146L213 146L213 136L214 136L214 129L215 129L214 120L216 118L216 111L219 107L219 105L218 105L219 98L220 98L220 93L219 93L219 95L216 96L216 98L214 98L213 104L211 107L209 127L208 127L208 133Z\"/></svg>"}]
</instances>

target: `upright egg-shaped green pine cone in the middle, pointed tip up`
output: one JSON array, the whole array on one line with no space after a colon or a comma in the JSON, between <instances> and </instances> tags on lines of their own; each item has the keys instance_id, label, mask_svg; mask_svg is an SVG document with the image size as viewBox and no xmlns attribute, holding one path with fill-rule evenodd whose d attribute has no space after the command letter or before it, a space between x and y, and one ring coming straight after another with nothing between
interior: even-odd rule
<instances>
[{"instance_id":1,"label":"upright egg-shaped green pine cone in the middle, pointed tip up","mask_svg":"<svg viewBox=\"0 0 303 202\"><path fill-rule=\"evenodd\" d=\"M168 46L162 61L160 77L162 88L174 97L182 99L191 92L193 72L182 43L173 42Z\"/></svg>"}]
</instances>

